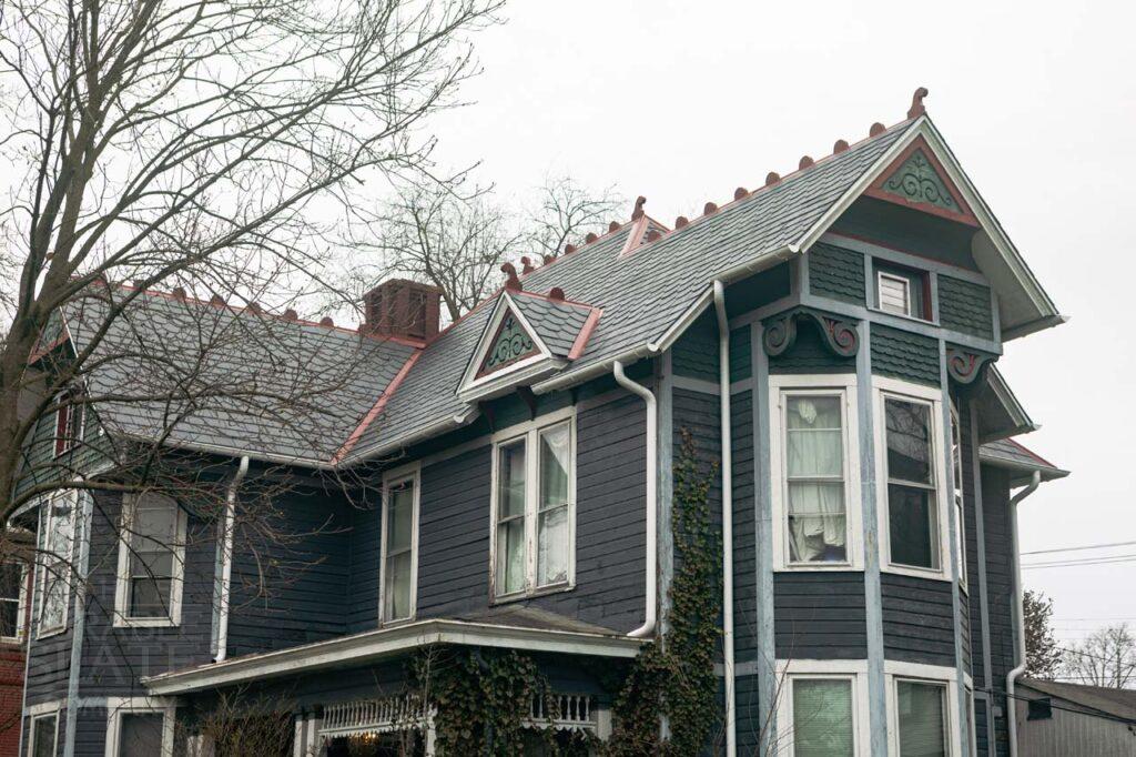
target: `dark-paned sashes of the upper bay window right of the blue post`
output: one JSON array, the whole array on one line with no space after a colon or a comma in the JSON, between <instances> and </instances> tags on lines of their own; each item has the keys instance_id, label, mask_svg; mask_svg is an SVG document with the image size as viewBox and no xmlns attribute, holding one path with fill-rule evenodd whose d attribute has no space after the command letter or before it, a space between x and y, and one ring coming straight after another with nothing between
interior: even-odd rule
<instances>
[{"instance_id":1,"label":"dark-paned sashes of the upper bay window right of the blue post","mask_svg":"<svg viewBox=\"0 0 1136 757\"><path fill-rule=\"evenodd\" d=\"M932 402L884 397L891 561L938 571L933 408Z\"/></svg>"}]
</instances>

